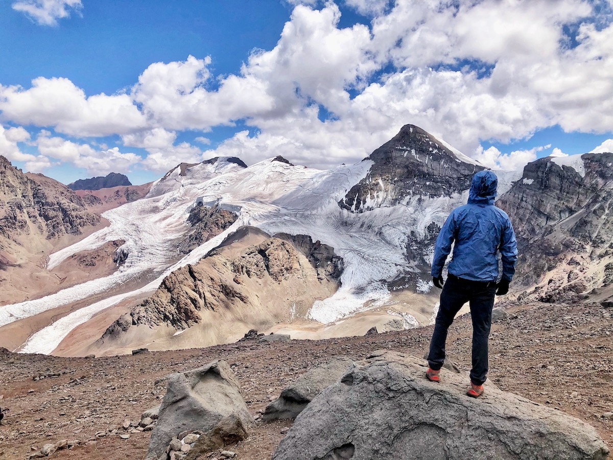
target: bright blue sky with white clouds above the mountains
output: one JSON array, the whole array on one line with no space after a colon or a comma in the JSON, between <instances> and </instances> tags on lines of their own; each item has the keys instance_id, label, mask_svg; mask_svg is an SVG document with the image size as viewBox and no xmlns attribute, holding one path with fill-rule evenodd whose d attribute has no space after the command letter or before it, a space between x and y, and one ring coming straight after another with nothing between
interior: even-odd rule
<instances>
[{"instance_id":1,"label":"bright blue sky with white clouds above the mountains","mask_svg":"<svg viewBox=\"0 0 613 460\"><path fill-rule=\"evenodd\" d=\"M142 183L218 155L354 163L406 123L503 169L610 151L612 10L2 0L0 155L65 183Z\"/></svg>"}]
</instances>

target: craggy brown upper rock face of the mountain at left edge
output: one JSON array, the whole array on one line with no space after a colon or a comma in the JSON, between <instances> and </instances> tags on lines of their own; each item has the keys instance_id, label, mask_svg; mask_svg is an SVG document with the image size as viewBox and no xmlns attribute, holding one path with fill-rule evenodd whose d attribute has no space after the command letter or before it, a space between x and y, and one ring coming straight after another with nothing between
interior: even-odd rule
<instances>
[{"instance_id":1,"label":"craggy brown upper rock face of the mountain at left edge","mask_svg":"<svg viewBox=\"0 0 613 460\"><path fill-rule=\"evenodd\" d=\"M23 174L0 156L0 236L14 242L31 234L55 239L79 235L99 221L66 185L42 174Z\"/></svg>"}]
</instances>

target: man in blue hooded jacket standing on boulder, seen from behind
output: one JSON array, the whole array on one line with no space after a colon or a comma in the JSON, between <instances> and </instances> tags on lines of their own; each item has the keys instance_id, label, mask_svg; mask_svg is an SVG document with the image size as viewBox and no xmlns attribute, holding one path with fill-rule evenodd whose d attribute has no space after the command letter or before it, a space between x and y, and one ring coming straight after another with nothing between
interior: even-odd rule
<instances>
[{"instance_id":1,"label":"man in blue hooded jacket standing on boulder, seen from behind","mask_svg":"<svg viewBox=\"0 0 613 460\"><path fill-rule=\"evenodd\" d=\"M487 341L492 324L494 296L509 291L515 273L517 242L508 215L493 205L498 178L492 171L480 171L473 177L468 204L454 209L436 239L432 278L443 289L430 342L426 377L440 381L445 359L447 329L466 302L470 302L473 320L473 369L466 394L479 397L487 375ZM443 266L455 242L449 263L449 276L443 282ZM502 277L498 278L498 255L502 259ZM444 286L443 286L444 283Z\"/></svg>"}]
</instances>

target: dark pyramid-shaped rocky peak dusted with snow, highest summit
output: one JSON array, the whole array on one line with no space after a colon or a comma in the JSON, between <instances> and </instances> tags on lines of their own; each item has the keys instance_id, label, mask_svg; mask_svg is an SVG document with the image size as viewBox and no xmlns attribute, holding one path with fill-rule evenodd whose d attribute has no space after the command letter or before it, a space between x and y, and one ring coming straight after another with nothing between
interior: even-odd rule
<instances>
[{"instance_id":1,"label":"dark pyramid-shaped rocky peak dusted with snow, highest summit","mask_svg":"<svg viewBox=\"0 0 613 460\"><path fill-rule=\"evenodd\" d=\"M364 212L393 206L407 196L451 196L468 190L473 174L485 169L414 125L405 125L393 139L373 151L368 175L349 190L338 205Z\"/></svg>"}]
</instances>

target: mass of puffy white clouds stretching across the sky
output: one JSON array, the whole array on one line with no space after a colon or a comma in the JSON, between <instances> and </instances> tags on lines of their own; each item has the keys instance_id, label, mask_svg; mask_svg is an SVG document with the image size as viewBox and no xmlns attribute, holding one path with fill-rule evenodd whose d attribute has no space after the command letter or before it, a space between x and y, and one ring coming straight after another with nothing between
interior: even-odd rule
<instances>
[{"instance_id":1,"label":"mass of puffy white clouds stretching across the sky","mask_svg":"<svg viewBox=\"0 0 613 460\"><path fill-rule=\"evenodd\" d=\"M96 174L126 164L161 172L216 155L247 163L284 155L324 168L359 161L413 123L488 166L516 169L540 147L502 153L482 142L524 139L554 125L613 129L608 2L346 0L371 18L369 26L348 28L339 26L334 2L292 3L276 46L253 50L235 75L214 75L209 56L188 56L153 63L130 88L110 95L88 96L63 78L0 85L7 127L0 154L25 155L15 151L25 141L6 133L34 126L55 131L28 141L40 157L90 164ZM211 129L236 123L251 129L216 148L202 144ZM186 131L195 133L193 143L177 142ZM121 142L101 149L66 136ZM148 155L123 153L131 148Z\"/></svg>"}]
</instances>

